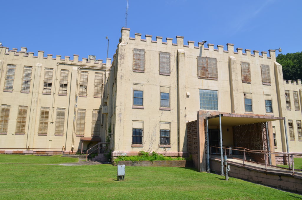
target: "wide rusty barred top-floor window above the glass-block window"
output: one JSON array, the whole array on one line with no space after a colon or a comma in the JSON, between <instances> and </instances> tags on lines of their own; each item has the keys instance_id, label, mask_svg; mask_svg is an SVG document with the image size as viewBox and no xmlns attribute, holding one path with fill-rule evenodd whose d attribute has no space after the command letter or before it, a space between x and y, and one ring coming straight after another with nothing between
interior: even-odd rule
<instances>
[{"instance_id":1,"label":"wide rusty barred top-floor window above the glass-block window","mask_svg":"<svg viewBox=\"0 0 302 200\"><path fill-rule=\"evenodd\" d=\"M198 78L217 79L217 59L197 56Z\"/></svg>"}]
</instances>

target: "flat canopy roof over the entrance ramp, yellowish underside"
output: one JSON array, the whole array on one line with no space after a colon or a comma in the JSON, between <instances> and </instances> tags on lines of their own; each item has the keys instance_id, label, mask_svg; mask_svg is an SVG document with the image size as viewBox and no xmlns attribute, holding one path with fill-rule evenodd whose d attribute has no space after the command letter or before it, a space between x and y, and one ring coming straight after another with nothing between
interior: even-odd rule
<instances>
[{"instance_id":1,"label":"flat canopy roof over the entrance ramp, yellowish underside","mask_svg":"<svg viewBox=\"0 0 302 200\"><path fill-rule=\"evenodd\" d=\"M244 124L254 124L259 122L283 120L282 117L271 117L266 115L240 115L240 114L221 114L222 126L239 126ZM209 126L219 126L219 115L208 117Z\"/></svg>"}]
</instances>

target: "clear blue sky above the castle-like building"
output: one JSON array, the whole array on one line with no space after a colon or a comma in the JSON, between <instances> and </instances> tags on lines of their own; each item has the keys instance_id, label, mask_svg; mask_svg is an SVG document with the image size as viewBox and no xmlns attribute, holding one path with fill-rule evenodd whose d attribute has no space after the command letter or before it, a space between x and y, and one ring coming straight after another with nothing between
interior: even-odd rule
<instances>
[{"instance_id":1,"label":"clear blue sky above the castle-like building","mask_svg":"<svg viewBox=\"0 0 302 200\"><path fill-rule=\"evenodd\" d=\"M105 62L109 37L112 58L125 26L126 0L2 1L0 41L62 56L95 55ZM129 0L127 27L134 33L174 38L184 36L215 45L282 53L301 51L302 1L296 0ZM278 54L278 53L277 53Z\"/></svg>"}]
</instances>

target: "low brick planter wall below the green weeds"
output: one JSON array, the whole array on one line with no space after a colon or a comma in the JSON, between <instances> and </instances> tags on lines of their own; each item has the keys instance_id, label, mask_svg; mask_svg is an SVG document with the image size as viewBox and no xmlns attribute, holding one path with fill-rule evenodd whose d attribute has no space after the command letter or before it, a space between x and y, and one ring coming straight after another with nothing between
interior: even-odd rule
<instances>
[{"instance_id":1,"label":"low brick planter wall below the green weeds","mask_svg":"<svg viewBox=\"0 0 302 200\"><path fill-rule=\"evenodd\" d=\"M141 160L141 161L120 161L118 165L125 166L156 166L156 167L193 167L191 160ZM114 163L114 166L117 164Z\"/></svg>"}]
</instances>

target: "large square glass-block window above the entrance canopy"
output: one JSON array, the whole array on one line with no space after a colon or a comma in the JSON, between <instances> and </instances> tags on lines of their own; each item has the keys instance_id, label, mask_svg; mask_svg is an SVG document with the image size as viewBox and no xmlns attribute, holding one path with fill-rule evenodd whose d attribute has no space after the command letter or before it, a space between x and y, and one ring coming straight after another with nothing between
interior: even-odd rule
<instances>
[{"instance_id":1,"label":"large square glass-block window above the entrance canopy","mask_svg":"<svg viewBox=\"0 0 302 200\"><path fill-rule=\"evenodd\" d=\"M199 90L199 105L201 110L218 110L217 90Z\"/></svg>"}]
</instances>

